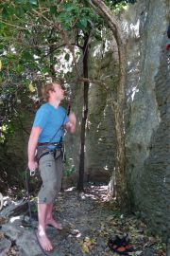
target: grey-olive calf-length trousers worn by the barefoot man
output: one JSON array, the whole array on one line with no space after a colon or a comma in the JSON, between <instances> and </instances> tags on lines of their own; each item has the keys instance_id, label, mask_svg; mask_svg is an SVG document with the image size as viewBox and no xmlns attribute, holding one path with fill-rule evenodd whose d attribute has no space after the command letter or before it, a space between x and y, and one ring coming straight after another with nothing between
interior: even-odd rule
<instances>
[{"instance_id":1,"label":"grey-olive calf-length trousers worn by the barefoot man","mask_svg":"<svg viewBox=\"0 0 170 256\"><path fill-rule=\"evenodd\" d=\"M48 149L38 150L38 157ZM55 201L61 187L62 178L62 152L56 150L56 154L43 155L39 161L39 171L42 177L42 187L38 193L39 204L51 204Z\"/></svg>"}]
</instances>

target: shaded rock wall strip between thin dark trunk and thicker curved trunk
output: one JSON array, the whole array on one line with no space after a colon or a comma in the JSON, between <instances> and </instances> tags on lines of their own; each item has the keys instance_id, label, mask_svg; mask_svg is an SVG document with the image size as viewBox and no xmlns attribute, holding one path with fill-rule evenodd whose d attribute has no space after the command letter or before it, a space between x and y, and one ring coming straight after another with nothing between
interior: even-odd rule
<instances>
[{"instance_id":1,"label":"shaded rock wall strip between thin dark trunk and thicker curved trunk","mask_svg":"<svg viewBox=\"0 0 170 256\"><path fill-rule=\"evenodd\" d=\"M89 92L89 117L86 138L86 172L90 180L109 180L113 171L116 151L114 118L110 107L110 95L117 75L117 56L110 35L103 37L103 45L93 45L90 51L90 77L105 84L91 84ZM114 68L114 78L112 77ZM106 86L106 88L105 88Z\"/></svg>"}]
</instances>

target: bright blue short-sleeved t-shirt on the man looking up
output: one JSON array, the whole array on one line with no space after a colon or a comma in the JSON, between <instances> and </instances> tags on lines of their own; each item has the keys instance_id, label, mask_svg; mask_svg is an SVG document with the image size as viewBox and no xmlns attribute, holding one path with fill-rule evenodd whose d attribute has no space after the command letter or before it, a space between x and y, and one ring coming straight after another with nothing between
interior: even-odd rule
<instances>
[{"instance_id":1,"label":"bright blue short-sleeved t-shirt on the man looking up","mask_svg":"<svg viewBox=\"0 0 170 256\"><path fill-rule=\"evenodd\" d=\"M69 118L63 107L55 108L48 102L44 103L37 111L33 123L33 127L39 126L42 129L38 142L59 142L64 133L61 126L68 121Z\"/></svg>"}]
</instances>

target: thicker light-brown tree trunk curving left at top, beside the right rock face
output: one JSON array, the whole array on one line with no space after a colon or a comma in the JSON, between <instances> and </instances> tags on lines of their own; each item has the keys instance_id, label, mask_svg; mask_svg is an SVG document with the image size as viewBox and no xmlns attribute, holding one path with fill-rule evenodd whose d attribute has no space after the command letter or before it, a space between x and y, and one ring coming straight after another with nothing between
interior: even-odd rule
<instances>
[{"instance_id":1,"label":"thicker light-brown tree trunk curving left at top, beside the right rock face","mask_svg":"<svg viewBox=\"0 0 170 256\"><path fill-rule=\"evenodd\" d=\"M122 209L129 207L127 194L127 179L125 175L125 127L124 127L124 107L125 107L125 82L126 82L126 53L125 44L122 38L121 29L114 14L103 1L88 0L93 9L102 16L110 27L116 40L119 55L119 84L117 86L116 101L111 101L111 108L115 119L116 132L116 164L115 164L115 186L117 200ZM113 171L114 172L114 171Z\"/></svg>"}]
</instances>

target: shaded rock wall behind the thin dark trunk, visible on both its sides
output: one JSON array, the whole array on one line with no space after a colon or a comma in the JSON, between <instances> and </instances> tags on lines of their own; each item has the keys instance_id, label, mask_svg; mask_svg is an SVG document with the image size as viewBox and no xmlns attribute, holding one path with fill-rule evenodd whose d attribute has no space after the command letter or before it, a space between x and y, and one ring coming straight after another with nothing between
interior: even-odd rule
<instances>
[{"instance_id":1,"label":"shaded rock wall behind the thin dark trunk, visible on both its sides","mask_svg":"<svg viewBox=\"0 0 170 256\"><path fill-rule=\"evenodd\" d=\"M117 82L117 56L113 54L114 42L108 31L103 31L103 43L92 42L89 49L89 77L103 80L105 84L91 83L85 143L85 180L109 181L114 167L115 136L114 118L110 108L110 91ZM112 74L114 68L114 74ZM67 155L79 167L81 116L83 112L83 83L72 88L75 95L72 110L76 112L76 134L68 135ZM77 173L76 173L77 174Z\"/></svg>"}]
</instances>

